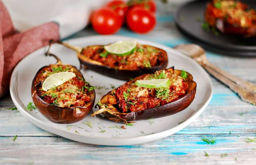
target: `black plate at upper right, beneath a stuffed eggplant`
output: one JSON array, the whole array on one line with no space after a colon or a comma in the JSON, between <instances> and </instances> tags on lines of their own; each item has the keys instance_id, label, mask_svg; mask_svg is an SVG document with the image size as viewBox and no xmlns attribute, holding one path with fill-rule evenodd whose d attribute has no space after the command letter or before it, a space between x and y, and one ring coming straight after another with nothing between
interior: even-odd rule
<instances>
[{"instance_id":1,"label":"black plate at upper right, beneath a stuffed eggplant","mask_svg":"<svg viewBox=\"0 0 256 165\"><path fill-rule=\"evenodd\" d=\"M256 8L256 0L241 0L251 8ZM214 35L202 28L207 0L195 0L182 5L175 13L178 29L193 42L228 55L256 56L256 37L227 35L219 32Z\"/></svg>"}]
</instances>

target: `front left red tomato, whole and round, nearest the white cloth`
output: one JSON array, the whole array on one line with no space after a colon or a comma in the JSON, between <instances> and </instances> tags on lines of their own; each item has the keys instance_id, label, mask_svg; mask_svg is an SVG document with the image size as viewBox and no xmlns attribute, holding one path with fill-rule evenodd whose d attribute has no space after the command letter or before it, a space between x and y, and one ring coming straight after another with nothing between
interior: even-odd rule
<instances>
[{"instance_id":1,"label":"front left red tomato, whole and round, nearest the white cloth","mask_svg":"<svg viewBox=\"0 0 256 165\"><path fill-rule=\"evenodd\" d=\"M119 16L109 8L102 8L93 13L92 25L100 34L113 34L121 28Z\"/></svg>"}]
</instances>

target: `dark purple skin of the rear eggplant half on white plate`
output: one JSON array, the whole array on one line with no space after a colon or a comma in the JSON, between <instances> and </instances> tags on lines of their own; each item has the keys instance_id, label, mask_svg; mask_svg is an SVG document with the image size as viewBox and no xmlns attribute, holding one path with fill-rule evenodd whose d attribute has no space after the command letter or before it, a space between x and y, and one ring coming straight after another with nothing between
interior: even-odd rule
<instances>
[{"instance_id":1,"label":"dark purple skin of the rear eggplant half on white plate","mask_svg":"<svg viewBox=\"0 0 256 165\"><path fill-rule=\"evenodd\" d=\"M151 46L151 47L153 47L153 46ZM129 79L137 77L141 74L154 73L157 70L165 69L168 65L168 56L167 56L166 51L164 51L163 49L159 49L159 50L161 51L161 53L163 53L163 56L165 56L165 61L161 61L160 65L150 67L150 68L145 67L145 68L141 68L138 70L118 70L113 67L99 65L94 60L85 58L85 56L82 55L81 53L78 54L78 59L79 59L80 63L85 65L85 67L88 68L89 70L93 70L95 72L98 72L100 74L103 74L103 75L106 75L108 77L112 77L115 79L128 81Z\"/></svg>"}]
</instances>

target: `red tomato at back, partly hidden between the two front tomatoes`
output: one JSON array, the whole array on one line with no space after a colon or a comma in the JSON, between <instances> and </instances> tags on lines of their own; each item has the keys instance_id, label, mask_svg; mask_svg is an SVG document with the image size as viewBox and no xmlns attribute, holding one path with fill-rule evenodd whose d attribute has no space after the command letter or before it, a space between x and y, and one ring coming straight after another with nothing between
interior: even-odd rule
<instances>
[{"instance_id":1,"label":"red tomato at back, partly hidden between the two front tomatoes","mask_svg":"<svg viewBox=\"0 0 256 165\"><path fill-rule=\"evenodd\" d=\"M123 22L128 11L128 5L126 5L126 2L123 0L112 0L107 3L107 7L113 9L120 16Z\"/></svg>"}]
</instances>

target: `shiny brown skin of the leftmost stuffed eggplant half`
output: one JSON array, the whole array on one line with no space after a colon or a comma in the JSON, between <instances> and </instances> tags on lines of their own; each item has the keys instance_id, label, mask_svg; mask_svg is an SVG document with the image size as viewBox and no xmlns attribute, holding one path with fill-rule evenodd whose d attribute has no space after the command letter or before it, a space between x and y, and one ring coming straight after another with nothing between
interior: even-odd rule
<instances>
[{"instance_id":1,"label":"shiny brown skin of the leftmost stuffed eggplant half","mask_svg":"<svg viewBox=\"0 0 256 165\"><path fill-rule=\"evenodd\" d=\"M37 107L42 115L44 115L47 119L54 123L69 124L84 119L93 108L95 102L95 90L88 93L89 95L91 95L91 100L84 107L63 108L55 105L50 105L47 102L44 102L44 100L42 100L42 98L40 98L40 96L37 94L38 84L36 84L35 82L38 73L40 73L40 71L44 70L46 67L48 66L44 66L40 70L38 70L32 82L31 95L35 107ZM73 67L77 70L75 66ZM81 74L79 70L77 71Z\"/></svg>"}]
</instances>

